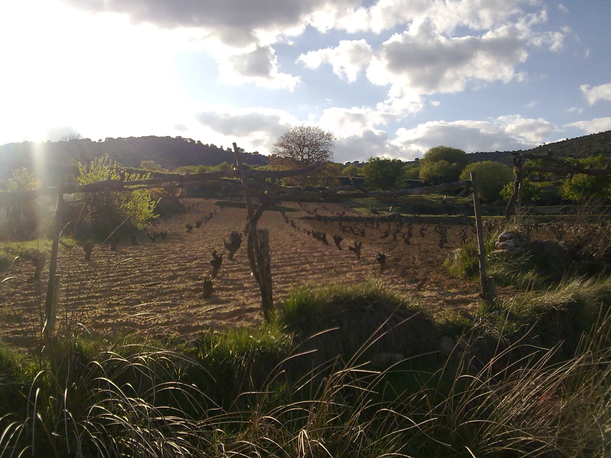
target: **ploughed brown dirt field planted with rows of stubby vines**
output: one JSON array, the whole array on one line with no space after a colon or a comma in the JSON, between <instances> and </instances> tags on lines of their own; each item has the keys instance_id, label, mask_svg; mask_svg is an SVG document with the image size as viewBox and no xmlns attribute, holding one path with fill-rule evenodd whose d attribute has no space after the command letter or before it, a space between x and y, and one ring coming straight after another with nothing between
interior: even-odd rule
<instances>
[{"instance_id":1,"label":"ploughed brown dirt field planted with rows of stubby vines","mask_svg":"<svg viewBox=\"0 0 611 458\"><path fill-rule=\"evenodd\" d=\"M252 278L246 256L246 241L233 261L223 260L214 292L208 299L199 299L202 278L210 268L213 249L222 252L223 239L231 230L241 231L246 223L246 210L214 205L213 200L187 199L194 205L185 214L160 221L151 232L169 231L167 239L150 241L146 233L138 237L139 245L128 241L112 252L109 245L97 245L92 261L84 261L82 249L60 247L58 273L62 288L58 311L58 326L66 316L82 323L93 334L120 336L127 333L154 336L160 339L192 338L207 329L227 326L255 326L262 322L258 286ZM305 215L297 204L288 204L298 212L287 213L300 228L325 231L329 245L317 241L303 231L291 228L282 215L267 211L260 228L269 228L271 245L274 301L282 301L291 286L306 282L357 283L379 277L378 252L388 256L387 271L381 275L389 288L417 295L431 313L460 308L470 310L478 300L478 284L450 277L443 266L446 253L459 246L459 227L450 227L448 244L437 247L437 234L428 228L422 238L420 225L414 226L412 245L404 245L401 236L392 241L380 239L386 224L379 230L366 228L365 237L338 231L321 222L299 220ZM338 205L309 204L321 215L345 211ZM185 224L194 224L200 216L216 211L213 219L192 233ZM343 236L343 250L338 250L332 236ZM362 257L356 261L348 245L363 242ZM226 258L226 256L225 256ZM48 267L48 266L47 266ZM24 332L40 330L38 310L44 300L42 285L29 281L34 273L32 263L17 263L3 277L14 276L0 286L0 343L25 344ZM426 278L420 291L415 286ZM42 291L44 293L44 291ZM499 289L499 293L511 293Z\"/></svg>"}]
</instances>

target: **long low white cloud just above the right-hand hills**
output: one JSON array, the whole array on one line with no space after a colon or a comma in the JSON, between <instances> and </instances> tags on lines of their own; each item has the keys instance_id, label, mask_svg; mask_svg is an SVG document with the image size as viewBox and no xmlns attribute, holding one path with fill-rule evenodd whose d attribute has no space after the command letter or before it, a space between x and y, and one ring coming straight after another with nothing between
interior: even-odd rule
<instances>
[{"instance_id":1,"label":"long low white cloud just above the right-hand hills","mask_svg":"<svg viewBox=\"0 0 611 458\"><path fill-rule=\"evenodd\" d=\"M494 120L431 121L415 128L400 128L390 143L400 155L422 157L429 148L446 145L473 151L508 151L529 149L541 144L556 128L546 120L501 116Z\"/></svg>"}]
</instances>

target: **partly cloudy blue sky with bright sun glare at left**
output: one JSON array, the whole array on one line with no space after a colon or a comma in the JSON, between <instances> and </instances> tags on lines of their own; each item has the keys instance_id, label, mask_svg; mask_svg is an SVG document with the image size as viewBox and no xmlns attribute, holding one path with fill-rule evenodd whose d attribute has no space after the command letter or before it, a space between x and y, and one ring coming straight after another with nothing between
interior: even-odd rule
<instances>
[{"instance_id":1,"label":"partly cloudy blue sky with bright sun glare at left","mask_svg":"<svg viewBox=\"0 0 611 458\"><path fill-rule=\"evenodd\" d=\"M0 144L529 149L611 129L611 0L2 0L0 67Z\"/></svg>"}]
</instances>

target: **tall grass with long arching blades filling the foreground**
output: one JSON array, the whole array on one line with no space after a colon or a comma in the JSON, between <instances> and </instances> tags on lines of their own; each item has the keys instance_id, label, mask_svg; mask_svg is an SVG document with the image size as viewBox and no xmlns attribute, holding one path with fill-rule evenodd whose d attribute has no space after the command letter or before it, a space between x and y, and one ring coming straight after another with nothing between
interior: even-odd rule
<instances>
[{"instance_id":1,"label":"tall grass with long arching blades filling the foreground","mask_svg":"<svg viewBox=\"0 0 611 458\"><path fill-rule=\"evenodd\" d=\"M609 325L595 305L610 288L567 283L497 305L535 321L591 305L598 325L560 360L558 346L514 341L475 366L468 342L434 366L372 369L373 352L403 345L414 357L436 332L409 297L375 284L295 290L276 326L211 332L175 351L78 336L27 355L4 350L0 457L609 456ZM423 330L404 327L419 317ZM395 329L412 334L384 341ZM354 343L336 340L318 365L312 332Z\"/></svg>"}]
</instances>

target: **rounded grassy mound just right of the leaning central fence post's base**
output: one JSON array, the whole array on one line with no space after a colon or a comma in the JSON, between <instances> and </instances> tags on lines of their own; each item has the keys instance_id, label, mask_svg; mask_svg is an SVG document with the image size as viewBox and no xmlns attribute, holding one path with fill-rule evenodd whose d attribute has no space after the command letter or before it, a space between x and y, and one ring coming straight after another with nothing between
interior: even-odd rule
<instances>
[{"instance_id":1,"label":"rounded grassy mound just right of the leaning central fence post's base","mask_svg":"<svg viewBox=\"0 0 611 458\"><path fill-rule=\"evenodd\" d=\"M282 304L277 324L295 333L320 358L351 358L367 347L376 352L414 356L437 349L433 321L409 297L381 283L302 286Z\"/></svg>"}]
</instances>

